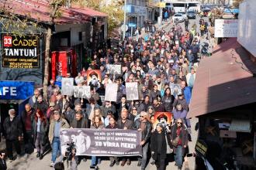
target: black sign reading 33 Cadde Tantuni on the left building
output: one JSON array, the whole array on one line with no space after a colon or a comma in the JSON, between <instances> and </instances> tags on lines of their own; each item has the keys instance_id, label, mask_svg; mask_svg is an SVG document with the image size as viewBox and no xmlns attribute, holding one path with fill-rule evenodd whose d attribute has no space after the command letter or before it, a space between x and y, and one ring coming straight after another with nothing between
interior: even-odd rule
<instances>
[{"instance_id":1,"label":"black sign reading 33 Cadde Tantuni on the left building","mask_svg":"<svg viewBox=\"0 0 256 170\"><path fill-rule=\"evenodd\" d=\"M2 34L2 67L39 68L39 50L38 36Z\"/></svg>"}]
</instances>

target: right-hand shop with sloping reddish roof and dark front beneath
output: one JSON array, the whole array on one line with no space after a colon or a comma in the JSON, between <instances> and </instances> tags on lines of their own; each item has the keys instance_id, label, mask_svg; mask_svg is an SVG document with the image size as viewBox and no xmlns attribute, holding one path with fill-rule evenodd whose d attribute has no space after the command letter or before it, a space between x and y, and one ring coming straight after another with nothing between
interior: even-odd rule
<instances>
[{"instance_id":1,"label":"right-hand shop with sloping reddish roof and dark front beneath","mask_svg":"<svg viewBox=\"0 0 256 170\"><path fill-rule=\"evenodd\" d=\"M255 71L235 38L200 62L188 114L199 118L196 169L256 168Z\"/></svg>"}]
</instances>

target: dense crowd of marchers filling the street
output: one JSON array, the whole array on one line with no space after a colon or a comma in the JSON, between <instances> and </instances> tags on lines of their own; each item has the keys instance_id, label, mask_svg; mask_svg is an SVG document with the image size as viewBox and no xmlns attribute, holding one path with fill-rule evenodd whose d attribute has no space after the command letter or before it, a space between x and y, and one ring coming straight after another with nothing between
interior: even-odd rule
<instances>
[{"instance_id":1,"label":"dense crowd of marchers filling the street","mask_svg":"<svg viewBox=\"0 0 256 170\"><path fill-rule=\"evenodd\" d=\"M194 29L192 30L194 31ZM91 97L75 98L61 94L54 80L50 80L47 100L42 91L34 90L29 104L22 115L9 110L4 131L7 156L13 160L12 146L21 154L19 141L23 140L25 152L35 151L43 159L47 146L51 146L51 166L56 163L61 151L61 128L119 128L141 131L143 149L137 165L146 168L150 151L150 163L157 169L165 169L167 154L173 151L175 165L182 169L190 140L190 122L186 119L189 102L195 82L195 70L199 58L200 39L195 32L174 26L168 32L164 29L154 35L146 33L139 39L126 39L115 49L99 49L92 56L91 63L78 76L74 84L84 86L88 82L86 70L100 70L102 81L88 84ZM112 75L106 64L122 66L122 74ZM71 77L67 73L67 77ZM137 82L139 100L126 100L126 82ZM117 83L116 102L102 101L107 83ZM171 112L172 124L159 123L154 126L156 112ZM169 151L170 150L170 151ZM110 157L113 165L130 165L129 157ZM79 157L78 162L86 160ZM92 156L90 168L101 163L101 157Z\"/></svg>"}]
</instances>

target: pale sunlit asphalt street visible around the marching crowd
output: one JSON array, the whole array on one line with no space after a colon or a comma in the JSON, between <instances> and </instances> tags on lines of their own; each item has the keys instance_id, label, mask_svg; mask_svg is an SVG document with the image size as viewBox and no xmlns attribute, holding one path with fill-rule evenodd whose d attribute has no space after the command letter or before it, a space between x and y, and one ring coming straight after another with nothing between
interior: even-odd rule
<instances>
[{"instance_id":1,"label":"pale sunlit asphalt street visible around the marching crowd","mask_svg":"<svg viewBox=\"0 0 256 170\"><path fill-rule=\"evenodd\" d=\"M196 23L197 29L199 31L199 18L197 19L190 19L190 24L189 24L189 29L191 28L191 26L193 25L193 23ZM166 26L167 22L164 22L164 25ZM179 23L179 25L182 26L182 28L184 29L184 22ZM165 27L164 29L166 31L169 31L171 29L172 25L168 24L167 27ZM194 152L194 148L195 148L195 141L197 139L197 131L195 131L195 124L197 123L197 119L196 118L192 118L191 120L191 124L192 124L192 142L189 142L189 153ZM24 155L22 156L22 158L19 158L13 162L9 162L7 161L7 165L8 165L8 169L9 170L47 170L47 169L54 169L54 168L50 168L50 158L51 158L51 152L48 153L47 155L44 156L43 160L39 160L38 158L36 158L36 154L32 154L32 155ZM177 169L177 167L175 166L175 162L173 162L173 158L172 156L169 156L170 161L168 162L168 166L167 169ZM99 169L103 169L103 170L139 170L140 167L137 166L137 158L133 158L134 161L132 161L131 165L125 165L123 167L121 167L120 165L114 165L112 168L109 167L109 160L108 158L104 158L101 162L101 164L99 165ZM90 163L91 160L88 159L87 162L81 162L80 165L78 165L78 170L87 170L90 169ZM65 169L67 168L67 164L65 162ZM155 170L156 167L155 165L147 165L147 170ZM183 165L183 168L185 170L192 170L195 169L195 158L193 157L189 157L189 158L185 158L185 162Z\"/></svg>"}]
</instances>

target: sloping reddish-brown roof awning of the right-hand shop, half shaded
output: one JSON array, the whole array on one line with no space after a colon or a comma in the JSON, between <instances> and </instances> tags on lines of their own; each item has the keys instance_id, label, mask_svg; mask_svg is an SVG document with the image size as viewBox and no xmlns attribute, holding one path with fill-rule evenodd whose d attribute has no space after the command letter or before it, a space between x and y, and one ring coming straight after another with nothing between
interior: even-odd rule
<instances>
[{"instance_id":1,"label":"sloping reddish-brown roof awning of the right-hand shop, half shaded","mask_svg":"<svg viewBox=\"0 0 256 170\"><path fill-rule=\"evenodd\" d=\"M199 63L188 117L256 102L256 77L247 70L256 73L256 66L236 38L217 46Z\"/></svg>"}]
</instances>

